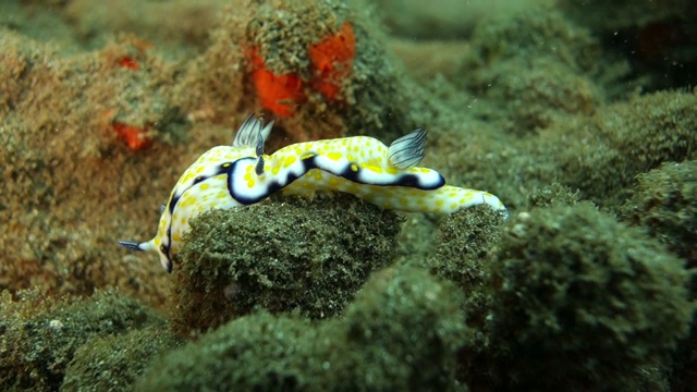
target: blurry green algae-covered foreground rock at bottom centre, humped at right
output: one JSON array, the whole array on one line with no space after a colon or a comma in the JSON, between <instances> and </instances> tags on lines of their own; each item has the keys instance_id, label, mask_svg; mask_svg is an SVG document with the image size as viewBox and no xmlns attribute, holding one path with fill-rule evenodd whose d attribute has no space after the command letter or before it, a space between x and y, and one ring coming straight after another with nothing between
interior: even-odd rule
<instances>
[{"instance_id":1,"label":"blurry green algae-covered foreground rock at bottom centre, humped at right","mask_svg":"<svg viewBox=\"0 0 697 392\"><path fill-rule=\"evenodd\" d=\"M414 268L372 275L343 319L240 317L155 363L136 390L452 390L462 296Z\"/></svg>"}]
</instances>

